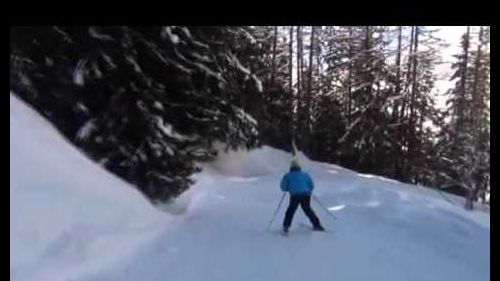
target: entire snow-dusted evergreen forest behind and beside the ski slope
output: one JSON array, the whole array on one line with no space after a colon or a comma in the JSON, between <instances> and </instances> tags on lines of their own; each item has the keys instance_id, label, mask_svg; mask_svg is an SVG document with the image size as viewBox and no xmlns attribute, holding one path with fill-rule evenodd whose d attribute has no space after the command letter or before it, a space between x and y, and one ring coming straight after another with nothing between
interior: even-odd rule
<instances>
[{"instance_id":1,"label":"entire snow-dusted evergreen forest behind and beside the ski slope","mask_svg":"<svg viewBox=\"0 0 500 281\"><path fill-rule=\"evenodd\" d=\"M466 196L489 192L490 28L13 27L10 87L153 201L227 148L292 143L317 161Z\"/></svg>"}]
</instances>

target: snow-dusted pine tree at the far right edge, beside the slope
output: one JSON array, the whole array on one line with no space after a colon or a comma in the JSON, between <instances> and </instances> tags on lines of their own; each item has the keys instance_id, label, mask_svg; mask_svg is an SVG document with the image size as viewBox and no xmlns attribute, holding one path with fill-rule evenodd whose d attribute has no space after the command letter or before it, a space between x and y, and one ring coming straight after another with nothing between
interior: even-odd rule
<instances>
[{"instance_id":1,"label":"snow-dusted pine tree at the far right edge, beside the slope","mask_svg":"<svg viewBox=\"0 0 500 281\"><path fill-rule=\"evenodd\" d=\"M473 49L470 27L462 37L462 52L455 56L446 123L440 134L440 173L443 187L460 188L466 209L489 189L489 28L480 27Z\"/></svg>"}]
</instances>

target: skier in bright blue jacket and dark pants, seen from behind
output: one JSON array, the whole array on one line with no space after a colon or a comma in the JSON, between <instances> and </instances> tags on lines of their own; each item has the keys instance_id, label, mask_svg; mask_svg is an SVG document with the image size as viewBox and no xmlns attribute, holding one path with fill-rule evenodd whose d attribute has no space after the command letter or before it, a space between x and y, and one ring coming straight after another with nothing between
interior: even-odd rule
<instances>
[{"instance_id":1,"label":"skier in bright blue jacket and dark pants, seen from behind","mask_svg":"<svg viewBox=\"0 0 500 281\"><path fill-rule=\"evenodd\" d=\"M288 233L288 229L292 223L293 215L297 207L302 207L302 210L311 221L314 230L324 231L321 223L311 209L311 193L314 189L314 183L311 177L301 171L299 163L294 159L290 165L290 171L283 176L281 180L281 190L290 193L290 204L286 210L285 220L283 221L283 231Z\"/></svg>"}]
</instances>

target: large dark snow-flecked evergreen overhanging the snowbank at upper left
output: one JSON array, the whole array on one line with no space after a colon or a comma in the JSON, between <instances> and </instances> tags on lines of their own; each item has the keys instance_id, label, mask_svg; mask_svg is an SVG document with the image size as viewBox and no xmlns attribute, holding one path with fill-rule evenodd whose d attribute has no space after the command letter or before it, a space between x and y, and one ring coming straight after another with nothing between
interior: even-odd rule
<instances>
[{"instance_id":1,"label":"large dark snow-flecked evergreen overhanging the snowbank at upper left","mask_svg":"<svg viewBox=\"0 0 500 281\"><path fill-rule=\"evenodd\" d=\"M93 159L166 200L214 142L257 143L256 121L236 103L261 91L238 64L242 45L258 47L232 27L12 28L11 89ZM242 72L250 79L238 85Z\"/></svg>"}]
</instances>

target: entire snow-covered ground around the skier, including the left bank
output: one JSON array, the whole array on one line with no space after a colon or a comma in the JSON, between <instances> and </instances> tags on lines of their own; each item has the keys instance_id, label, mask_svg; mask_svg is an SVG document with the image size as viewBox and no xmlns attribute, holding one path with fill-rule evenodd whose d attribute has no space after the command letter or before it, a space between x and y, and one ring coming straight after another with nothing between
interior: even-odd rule
<instances>
[{"instance_id":1,"label":"entire snow-covered ground around the skier, including the left bank","mask_svg":"<svg viewBox=\"0 0 500 281\"><path fill-rule=\"evenodd\" d=\"M222 154L178 200L152 208L11 95L11 280L489 280L490 217L434 190L299 160L331 230L298 210L278 234L291 156Z\"/></svg>"}]
</instances>

